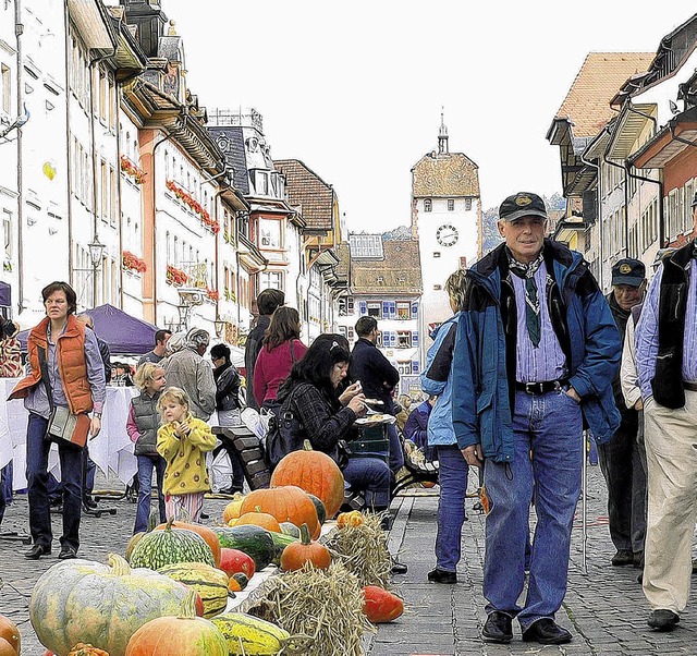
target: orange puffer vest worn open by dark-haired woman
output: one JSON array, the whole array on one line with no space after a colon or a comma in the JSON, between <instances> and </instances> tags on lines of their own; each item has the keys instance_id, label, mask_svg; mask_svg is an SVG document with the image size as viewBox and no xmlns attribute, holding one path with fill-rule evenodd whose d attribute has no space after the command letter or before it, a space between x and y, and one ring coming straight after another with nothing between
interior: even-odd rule
<instances>
[{"instance_id":1,"label":"orange puffer vest worn open by dark-haired woman","mask_svg":"<svg viewBox=\"0 0 697 656\"><path fill-rule=\"evenodd\" d=\"M41 380L39 347L42 347L48 355L47 329L49 320L46 317L29 332L27 349L32 373L17 382L10 394L10 400L24 399L28 396L29 390ZM85 361L85 326L72 314L68 316L65 331L56 340L56 356L70 411L74 414L89 412L93 409L93 402Z\"/></svg>"}]
</instances>

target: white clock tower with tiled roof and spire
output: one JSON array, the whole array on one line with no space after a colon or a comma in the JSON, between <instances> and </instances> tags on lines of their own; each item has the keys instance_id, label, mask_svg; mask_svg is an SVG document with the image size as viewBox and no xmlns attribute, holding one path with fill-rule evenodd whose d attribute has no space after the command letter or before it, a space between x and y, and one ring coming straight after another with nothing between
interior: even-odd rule
<instances>
[{"instance_id":1,"label":"white clock tower with tiled roof and spire","mask_svg":"<svg viewBox=\"0 0 697 656\"><path fill-rule=\"evenodd\" d=\"M438 149L412 169L412 238L421 260L420 333L452 316L445 280L481 256L481 199L477 165L464 153L451 153L441 113ZM430 338L421 340L421 362Z\"/></svg>"}]
</instances>

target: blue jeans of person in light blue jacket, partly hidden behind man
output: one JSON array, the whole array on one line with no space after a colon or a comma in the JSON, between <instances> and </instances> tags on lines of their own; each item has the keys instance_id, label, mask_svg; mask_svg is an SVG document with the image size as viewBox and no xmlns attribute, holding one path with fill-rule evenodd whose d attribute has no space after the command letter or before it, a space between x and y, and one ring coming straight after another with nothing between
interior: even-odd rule
<instances>
[{"instance_id":1,"label":"blue jeans of person in light blue jacket, partly hidden behind man","mask_svg":"<svg viewBox=\"0 0 697 656\"><path fill-rule=\"evenodd\" d=\"M436 567L439 570L454 572L460 562L469 467L457 445L439 445L436 448L438 450L438 483L440 485Z\"/></svg>"}]
</instances>

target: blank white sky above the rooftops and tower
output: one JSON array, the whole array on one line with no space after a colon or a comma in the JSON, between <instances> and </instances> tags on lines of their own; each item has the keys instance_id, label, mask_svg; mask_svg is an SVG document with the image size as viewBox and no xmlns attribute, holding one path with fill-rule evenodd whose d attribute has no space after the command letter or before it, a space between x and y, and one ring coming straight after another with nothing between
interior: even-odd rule
<instances>
[{"instance_id":1,"label":"blank white sky above the rooftops and tower","mask_svg":"<svg viewBox=\"0 0 697 656\"><path fill-rule=\"evenodd\" d=\"M337 191L352 232L411 220L438 144L479 166L484 209L561 192L545 138L590 51L656 52L694 0L160 0L207 107L254 107L274 159Z\"/></svg>"}]
</instances>

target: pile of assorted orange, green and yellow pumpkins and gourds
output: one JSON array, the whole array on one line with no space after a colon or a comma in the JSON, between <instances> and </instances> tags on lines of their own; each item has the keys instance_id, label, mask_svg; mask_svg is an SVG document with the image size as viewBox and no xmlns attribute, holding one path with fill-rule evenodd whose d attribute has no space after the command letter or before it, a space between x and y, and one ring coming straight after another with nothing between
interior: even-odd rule
<instances>
[{"instance_id":1,"label":"pile of assorted orange, green and yellow pumpkins and gourds","mask_svg":"<svg viewBox=\"0 0 697 656\"><path fill-rule=\"evenodd\" d=\"M225 508L224 526L170 520L134 535L126 559L110 555L108 564L65 560L47 570L29 602L29 619L47 654L271 656L281 652L291 635L256 617L224 612L228 598L272 562L284 571L308 561L328 568L331 556L316 538L325 519L339 511L344 484L329 457L297 451L278 465L271 485L234 498ZM394 603L389 614L375 611L390 593L364 592L371 621L401 615L401 610L395 614ZM13 651L4 647L3 640ZM17 656L19 641L16 627L8 629L0 622L0 656Z\"/></svg>"}]
</instances>

